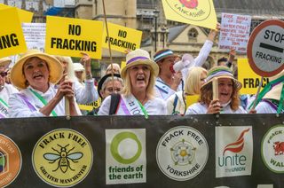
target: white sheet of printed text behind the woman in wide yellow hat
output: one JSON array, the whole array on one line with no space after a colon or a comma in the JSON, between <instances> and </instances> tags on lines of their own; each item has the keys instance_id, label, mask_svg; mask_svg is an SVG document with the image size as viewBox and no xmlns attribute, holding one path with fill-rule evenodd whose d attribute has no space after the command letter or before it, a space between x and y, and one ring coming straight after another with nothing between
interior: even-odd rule
<instances>
[{"instance_id":1,"label":"white sheet of printed text behind the woman in wide yellow hat","mask_svg":"<svg viewBox=\"0 0 284 188\"><path fill-rule=\"evenodd\" d=\"M21 27L23 29L27 48L44 52L46 24L22 23Z\"/></svg>"}]
</instances>

